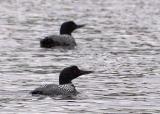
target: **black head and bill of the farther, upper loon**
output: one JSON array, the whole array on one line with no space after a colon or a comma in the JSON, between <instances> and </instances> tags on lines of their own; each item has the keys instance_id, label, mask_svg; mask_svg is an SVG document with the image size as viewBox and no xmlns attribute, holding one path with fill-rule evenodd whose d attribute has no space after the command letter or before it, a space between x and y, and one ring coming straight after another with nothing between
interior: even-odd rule
<instances>
[{"instance_id":1,"label":"black head and bill of the farther, upper loon","mask_svg":"<svg viewBox=\"0 0 160 114\"><path fill-rule=\"evenodd\" d=\"M60 34L71 35L71 33L78 28L83 27L84 25L77 25L73 21L64 22L60 28Z\"/></svg>"}]
</instances>

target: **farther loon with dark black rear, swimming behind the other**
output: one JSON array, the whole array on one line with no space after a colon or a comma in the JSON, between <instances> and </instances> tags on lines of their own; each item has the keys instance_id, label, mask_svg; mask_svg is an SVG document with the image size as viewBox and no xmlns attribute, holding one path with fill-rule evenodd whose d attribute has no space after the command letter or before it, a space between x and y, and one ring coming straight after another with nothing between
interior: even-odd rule
<instances>
[{"instance_id":1,"label":"farther loon with dark black rear, swimming behind the other","mask_svg":"<svg viewBox=\"0 0 160 114\"><path fill-rule=\"evenodd\" d=\"M55 46L76 46L76 42L72 37L71 33L78 28L84 27L85 25L77 25L73 21L64 22L60 28L60 35L47 36L40 40L40 47L42 48L52 48Z\"/></svg>"}]
</instances>

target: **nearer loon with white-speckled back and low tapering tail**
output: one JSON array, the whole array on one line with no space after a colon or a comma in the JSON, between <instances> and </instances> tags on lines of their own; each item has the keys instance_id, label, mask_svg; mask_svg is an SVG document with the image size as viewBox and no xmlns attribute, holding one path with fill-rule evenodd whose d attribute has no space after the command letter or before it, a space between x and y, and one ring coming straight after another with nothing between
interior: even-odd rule
<instances>
[{"instance_id":1,"label":"nearer loon with white-speckled back and low tapering tail","mask_svg":"<svg viewBox=\"0 0 160 114\"><path fill-rule=\"evenodd\" d=\"M47 95L47 96L71 96L77 95L78 92L75 89L75 86L72 83L72 80L84 75L92 73L93 71L84 71L80 70L77 66L70 66L64 68L59 75L59 85L56 84L48 84L41 87L36 88L31 91L32 95Z\"/></svg>"}]
</instances>

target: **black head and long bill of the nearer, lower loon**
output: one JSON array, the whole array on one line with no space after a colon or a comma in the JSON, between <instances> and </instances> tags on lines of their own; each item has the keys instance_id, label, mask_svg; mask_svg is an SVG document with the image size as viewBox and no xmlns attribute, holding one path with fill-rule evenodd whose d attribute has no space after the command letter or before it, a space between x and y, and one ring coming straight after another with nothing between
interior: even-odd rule
<instances>
[{"instance_id":1,"label":"black head and long bill of the nearer, lower loon","mask_svg":"<svg viewBox=\"0 0 160 114\"><path fill-rule=\"evenodd\" d=\"M68 84L71 81L81 75L92 73L93 71L80 70L77 66L70 66L64 68L59 76L59 84Z\"/></svg>"}]
</instances>

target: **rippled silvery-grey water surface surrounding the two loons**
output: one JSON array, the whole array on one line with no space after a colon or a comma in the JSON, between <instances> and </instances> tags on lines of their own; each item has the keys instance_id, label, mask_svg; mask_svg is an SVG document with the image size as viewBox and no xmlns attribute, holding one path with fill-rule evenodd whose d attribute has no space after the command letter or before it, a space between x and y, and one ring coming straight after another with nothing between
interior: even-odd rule
<instances>
[{"instance_id":1,"label":"rippled silvery-grey water surface surrounding the two loons","mask_svg":"<svg viewBox=\"0 0 160 114\"><path fill-rule=\"evenodd\" d=\"M0 1L1 114L160 113L159 0ZM74 20L78 46L42 49L41 38ZM33 97L70 65L95 70L74 80L73 99Z\"/></svg>"}]
</instances>

